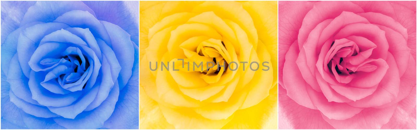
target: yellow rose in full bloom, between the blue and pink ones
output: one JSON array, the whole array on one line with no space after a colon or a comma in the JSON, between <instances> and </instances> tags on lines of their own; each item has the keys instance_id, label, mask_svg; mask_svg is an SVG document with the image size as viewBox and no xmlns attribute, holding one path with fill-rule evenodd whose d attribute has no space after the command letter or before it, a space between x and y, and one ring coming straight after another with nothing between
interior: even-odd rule
<instances>
[{"instance_id":1,"label":"yellow rose in full bloom, between the blue and pink ones","mask_svg":"<svg viewBox=\"0 0 417 130\"><path fill-rule=\"evenodd\" d=\"M140 128L276 129L277 25L276 1L141 1Z\"/></svg>"}]
</instances>

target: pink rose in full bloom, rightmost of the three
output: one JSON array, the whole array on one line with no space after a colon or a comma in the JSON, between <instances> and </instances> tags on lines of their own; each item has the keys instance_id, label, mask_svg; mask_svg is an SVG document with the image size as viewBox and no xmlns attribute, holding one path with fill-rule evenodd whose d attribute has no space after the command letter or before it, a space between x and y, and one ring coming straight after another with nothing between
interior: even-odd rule
<instances>
[{"instance_id":1,"label":"pink rose in full bloom, rightmost of the three","mask_svg":"<svg viewBox=\"0 0 417 130\"><path fill-rule=\"evenodd\" d=\"M416 129L416 2L279 2L279 129Z\"/></svg>"}]
</instances>

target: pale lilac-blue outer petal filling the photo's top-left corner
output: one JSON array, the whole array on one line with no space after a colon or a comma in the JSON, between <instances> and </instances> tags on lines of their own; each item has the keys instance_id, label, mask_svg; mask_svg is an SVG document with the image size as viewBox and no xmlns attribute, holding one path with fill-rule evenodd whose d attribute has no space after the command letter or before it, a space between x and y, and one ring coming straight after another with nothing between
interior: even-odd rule
<instances>
[{"instance_id":1,"label":"pale lilac-blue outer petal filling the photo's top-left corner","mask_svg":"<svg viewBox=\"0 0 417 130\"><path fill-rule=\"evenodd\" d=\"M18 29L26 11L35 1L2 1L1 2L1 43L8 35ZM3 55L3 54L2 54Z\"/></svg>"}]
</instances>

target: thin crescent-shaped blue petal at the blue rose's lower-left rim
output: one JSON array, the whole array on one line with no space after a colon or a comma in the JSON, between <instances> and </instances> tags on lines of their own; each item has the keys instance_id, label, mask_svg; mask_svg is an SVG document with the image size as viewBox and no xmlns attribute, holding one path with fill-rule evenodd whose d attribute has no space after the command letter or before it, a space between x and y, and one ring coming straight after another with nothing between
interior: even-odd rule
<instances>
[{"instance_id":1,"label":"thin crescent-shaped blue petal at the blue rose's lower-left rim","mask_svg":"<svg viewBox=\"0 0 417 130\"><path fill-rule=\"evenodd\" d=\"M16 106L18 106L18 108L22 109L23 111L25 111L26 113L30 115L34 115L40 118L52 118L52 117L59 116L59 115L56 115L55 113L52 113L45 106L34 105L34 104L23 101L22 99L16 97L12 91L10 91L9 96L10 96L10 101L12 103L14 103Z\"/></svg>"}]
</instances>

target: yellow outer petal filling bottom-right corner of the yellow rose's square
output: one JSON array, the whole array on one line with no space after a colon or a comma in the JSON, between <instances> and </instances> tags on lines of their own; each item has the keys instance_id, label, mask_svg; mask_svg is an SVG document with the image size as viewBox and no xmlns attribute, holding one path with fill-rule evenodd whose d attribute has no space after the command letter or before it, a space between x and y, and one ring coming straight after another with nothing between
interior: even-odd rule
<instances>
[{"instance_id":1,"label":"yellow outer petal filling bottom-right corner of the yellow rose's square","mask_svg":"<svg viewBox=\"0 0 417 130\"><path fill-rule=\"evenodd\" d=\"M278 129L277 86L269 96L252 107L237 110L233 119L221 129Z\"/></svg>"}]
</instances>

